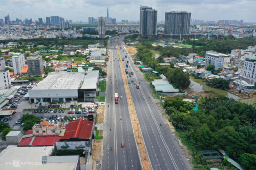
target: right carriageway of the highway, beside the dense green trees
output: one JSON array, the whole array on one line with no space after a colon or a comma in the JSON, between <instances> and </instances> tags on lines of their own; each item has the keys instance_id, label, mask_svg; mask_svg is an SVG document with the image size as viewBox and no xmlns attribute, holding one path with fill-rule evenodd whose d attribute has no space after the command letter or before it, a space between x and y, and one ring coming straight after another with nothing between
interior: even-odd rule
<instances>
[{"instance_id":1,"label":"right carriageway of the highway, beside the dense green trees","mask_svg":"<svg viewBox=\"0 0 256 170\"><path fill-rule=\"evenodd\" d=\"M124 36L118 39L119 49L122 47L120 49L121 58L124 58L125 53L128 53L123 46L123 38ZM123 50L125 51L123 52ZM132 80L135 83L140 82L140 89L137 89L132 82L129 84L129 88L152 169L192 170L191 165L154 102L148 83L143 75L137 72L137 66L133 64L129 55L127 56L129 60L128 72L134 72L134 75L128 78L128 82ZM124 68L126 68L127 59L125 58L123 61Z\"/></svg>"}]
</instances>

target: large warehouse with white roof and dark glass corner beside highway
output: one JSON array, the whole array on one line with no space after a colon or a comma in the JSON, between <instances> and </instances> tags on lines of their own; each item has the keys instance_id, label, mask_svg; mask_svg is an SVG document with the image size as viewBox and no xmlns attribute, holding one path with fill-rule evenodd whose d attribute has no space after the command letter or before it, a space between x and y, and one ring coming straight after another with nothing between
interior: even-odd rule
<instances>
[{"instance_id":1,"label":"large warehouse with white roof and dark glass corner beside highway","mask_svg":"<svg viewBox=\"0 0 256 170\"><path fill-rule=\"evenodd\" d=\"M49 73L31 90L29 100L39 102L88 102L96 99L99 71Z\"/></svg>"}]
</instances>

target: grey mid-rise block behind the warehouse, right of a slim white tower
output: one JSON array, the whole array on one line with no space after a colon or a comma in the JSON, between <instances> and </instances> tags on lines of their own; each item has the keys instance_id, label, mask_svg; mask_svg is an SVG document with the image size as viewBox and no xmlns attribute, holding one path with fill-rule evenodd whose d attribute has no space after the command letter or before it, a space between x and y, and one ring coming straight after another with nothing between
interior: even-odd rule
<instances>
[{"instance_id":1,"label":"grey mid-rise block behind the warehouse, right of a slim white tower","mask_svg":"<svg viewBox=\"0 0 256 170\"><path fill-rule=\"evenodd\" d=\"M33 56L27 58L28 74L30 76L42 76L43 74L43 58L42 56Z\"/></svg>"}]
</instances>

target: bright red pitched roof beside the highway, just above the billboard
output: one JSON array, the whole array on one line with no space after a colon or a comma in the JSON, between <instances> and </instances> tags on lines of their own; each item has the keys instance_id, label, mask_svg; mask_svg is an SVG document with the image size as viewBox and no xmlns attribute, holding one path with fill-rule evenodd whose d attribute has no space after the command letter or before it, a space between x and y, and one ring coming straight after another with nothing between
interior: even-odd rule
<instances>
[{"instance_id":1,"label":"bright red pitched roof beside the highway, just above the billboard","mask_svg":"<svg viewBox=\"0 0 256 170\"><path fill-rule=\"evenodd\" d=\"M90 139L93 130L93 124L93 121L89 121L88 119L83 118L80 118L77 121L70 121L62 139Z\"/></svg>"}]
</instances>

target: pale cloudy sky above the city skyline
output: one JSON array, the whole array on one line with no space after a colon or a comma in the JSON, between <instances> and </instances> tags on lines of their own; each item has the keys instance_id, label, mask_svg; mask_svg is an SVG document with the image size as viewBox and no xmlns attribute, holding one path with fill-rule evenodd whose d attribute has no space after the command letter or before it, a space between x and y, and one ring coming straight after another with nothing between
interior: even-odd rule
<instances>
[{"instance_id":1,"label":"pale cloudy sky above the city skyline","mask_svg":"<svg viewBox=\"0 0 256 170\"><path fill-rule=\"evenodd\" d=\"M158 21L169 11L191 12L192 19L240 20L256 22L256 0L0 0L0 18L7 14L11 20L58 15L73 21L88 21L89 16L109 15L122 19L139 20L140 5L158 10Z\"/></svg>"}]
</instances>

